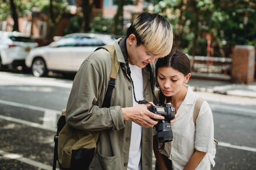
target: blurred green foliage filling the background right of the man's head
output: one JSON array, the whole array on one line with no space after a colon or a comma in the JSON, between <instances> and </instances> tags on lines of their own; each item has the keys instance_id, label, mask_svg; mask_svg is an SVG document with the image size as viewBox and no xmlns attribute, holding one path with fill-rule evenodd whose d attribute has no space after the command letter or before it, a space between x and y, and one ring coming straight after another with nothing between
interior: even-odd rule
<instances>
[{"instance_id":1,"label":"blurred green foliage filling the background right of the man's head","mask_svg":"<svg viewBox=\"0 0 256 170\"><path fill-rule=\"evenodd\" d=\"M175 46L195 55L206 54L206 35L211 35L215 56L236 44L256 45L256 1L244 0L147 0L153 12L165 16L173 26ZM245 16L248 23L244 23ZM204 49L204 50L203 50Z\"/></svg>"}]
</instances>

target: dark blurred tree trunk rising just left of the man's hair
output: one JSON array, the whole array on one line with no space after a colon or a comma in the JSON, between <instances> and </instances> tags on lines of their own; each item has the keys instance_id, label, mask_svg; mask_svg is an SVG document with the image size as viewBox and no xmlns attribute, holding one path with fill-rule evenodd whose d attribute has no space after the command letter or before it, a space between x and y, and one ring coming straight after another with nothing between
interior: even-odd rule
<instances>
[{"instance_id":1,"label":"dark blurred tree trunk rising just left of the man's hair","mask_svg":"<svg viewBox=\"0 0 256 170\"><path fill-rule=\"evenodd\" d=\"M116 15L114 17L114 26L112 29L112 34L118 35L122 34L123 30L123 6L124 6L124 1L117 1L118 2L118 8Z\"/></svg>"}]
</instances>

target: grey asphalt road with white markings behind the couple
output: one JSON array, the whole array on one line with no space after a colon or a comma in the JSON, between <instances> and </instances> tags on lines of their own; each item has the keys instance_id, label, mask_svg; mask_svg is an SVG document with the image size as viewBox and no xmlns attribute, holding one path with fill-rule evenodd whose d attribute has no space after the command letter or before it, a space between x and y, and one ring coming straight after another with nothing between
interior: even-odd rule
<instances>
[{"instance_id":1,"label":"grey asphalt road with white markings behind the couple","mask_svg":"<svg viewBox=\"0 0 256 170\"><path fill-rule=\"evenodd\" d=\"M72 79L0 72L0 169L52 169L53 137ZM199 93L214 113L212 169L256 169L256 99Z\"/></svg>"}]
</instances>

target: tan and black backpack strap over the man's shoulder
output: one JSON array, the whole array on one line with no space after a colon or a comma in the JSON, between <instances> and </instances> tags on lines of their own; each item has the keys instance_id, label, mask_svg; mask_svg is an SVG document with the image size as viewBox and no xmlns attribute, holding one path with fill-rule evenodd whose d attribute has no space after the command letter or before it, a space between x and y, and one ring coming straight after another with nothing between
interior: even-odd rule
<instances>
[{"instance_id":1,"label":"tan and black backpack strap over the man's shoulder","mask_svg":"<svg viewBox=\"0 0 256 170\"><path fill-rule=\"evenodd\" d=\"M111 59L112 59L112 68L111 68L110 80L109 80L108 89L106 90L105 98L104 98L104 101L103 101L103 104L102 104L102 107L110 107L111 96L112 96L113 89L114 89L115 84L116 84L116 78L117 78L120 63L117 60L115 47L113 45L100 46L96 50L99 50L101 48L108 51L110 53L110 56L111 56Z\"/></svg>"}]
</instances>

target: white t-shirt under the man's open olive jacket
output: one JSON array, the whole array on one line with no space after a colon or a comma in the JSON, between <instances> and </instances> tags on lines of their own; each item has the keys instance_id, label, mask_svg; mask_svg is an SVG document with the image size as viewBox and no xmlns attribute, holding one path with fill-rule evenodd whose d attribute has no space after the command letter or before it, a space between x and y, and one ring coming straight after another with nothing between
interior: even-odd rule
<instances>
[{"instance_id":1,"label":"white t-shirt under the man's open olive jacket","mask_svg":"<svg viewBox=\"0 0 256 170\"><path fill-rule=\"evenodd\" d=\"M143 78L142 70L136 65L129 64L131 68L131 77L134 83L134 91L136 100L143 100ZM133 106L138 105L134 100L133 94ZM127 169L128 170L140 170L141 169L141 134L142 127L138 124L132 122L132 134L131 134L131 144L129 150L129 162Z\"/></svg>"}]
</instances>

